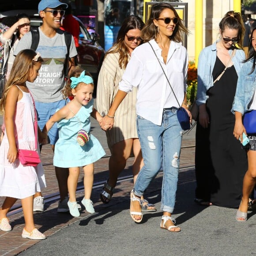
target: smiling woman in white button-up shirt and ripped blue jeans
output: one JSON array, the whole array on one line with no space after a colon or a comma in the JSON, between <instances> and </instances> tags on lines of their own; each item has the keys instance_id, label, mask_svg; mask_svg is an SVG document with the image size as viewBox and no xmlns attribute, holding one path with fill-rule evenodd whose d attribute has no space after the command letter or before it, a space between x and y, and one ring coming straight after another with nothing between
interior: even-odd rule
<instances>
[{"instance_id":1,"label":"smiling woman in white button-up shirt and ripped blue jeans","mask_svg":"<svg viewBox=\"0 0 256 256\"><path fill-rule=\"evenodd\" d=\"M132 52L132 58L119 83L117 96L107 116L102 120L102 124L112 126L113 117L120 102L133 87L138 87L137 131L144 166L131 192L130 214L135 222L141 222L140 197L143 196L143 192L162 165L164 175L161 210L163 216L160 226L172 232L180 231L179 227L174 226L175 220L171 218L175 204L183 134L177 119L179 107L177 101L187 109L188 53L181 45L182 31L188 32L179 19L177 11L170 4L159 3L152 6L150 19L141 33L146 43Z\"/></svg>"}]
</instances>

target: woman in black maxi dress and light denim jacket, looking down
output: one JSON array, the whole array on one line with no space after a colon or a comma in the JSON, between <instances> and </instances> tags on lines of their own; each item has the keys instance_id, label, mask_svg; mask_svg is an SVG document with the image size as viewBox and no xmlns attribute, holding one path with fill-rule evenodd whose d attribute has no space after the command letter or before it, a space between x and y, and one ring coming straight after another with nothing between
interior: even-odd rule
<instances>
[{"instance_id":1,"label":"woman in black maxi dress and light denim jacket, looking down","mask_svg":"<svg viewBox=\"0 0 256 256\"><path fill-rule=\"evenodd\" d=\"M237 74L245 60L244 51L236 47L242 46L244 31L240 13L227 12L219 23L220 39L204 48L199 56L195 202L200 205L238 207L241 200L247 159L233 137L235 118L230 109Z\"/></svg>"}]
</instances>

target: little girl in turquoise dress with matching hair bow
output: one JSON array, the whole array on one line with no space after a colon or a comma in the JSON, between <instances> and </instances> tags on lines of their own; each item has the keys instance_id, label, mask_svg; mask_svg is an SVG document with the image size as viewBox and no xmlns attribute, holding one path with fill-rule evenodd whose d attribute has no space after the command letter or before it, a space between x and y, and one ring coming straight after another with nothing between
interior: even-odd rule
<instances>
[{"instance_id":1,"label":"little girl in turquoise dress with matching hair bow","mask_svg":"<svg viewBox=\"0 0 256 256\"><path fill-rule=\"evenodd\" d=\"M74 98L49 119L42 132L47 134L53 124L58 122L59 139L55 145L53 165L69 168L68 208L73 217L79 217L75 197L79 167L83 166L84 171L84 198L81 203L87 212L94 213L90 200L94 179L93 163L104 156L105 151L98 139L90 134L90 116L97 121L102 119L93 107L93 79L83 71L79 77L72 76L70 80L72 82L67 83L63 94L66 98Z\"/></svg>"}]
</instances>

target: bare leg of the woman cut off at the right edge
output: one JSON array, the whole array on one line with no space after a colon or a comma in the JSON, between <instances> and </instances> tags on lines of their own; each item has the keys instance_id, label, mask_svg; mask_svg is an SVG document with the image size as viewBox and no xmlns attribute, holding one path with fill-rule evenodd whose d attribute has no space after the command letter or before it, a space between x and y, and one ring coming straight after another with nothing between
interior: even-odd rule
<instances>
[{"instance_id":1,"label":"bare leg of the woman cut off at the right edge","mask_svg":"<svg viewBox=\"0 0 256 256\"><path fill-rule=\"evenodd\" d=\"M239 211L247 212L248 211L248 202L249 196L256 184L256 151L249 150L247 153L248 156L248 170L245 173L243 181L243 197L239 207ZM243 218L238 218L242 220Z\"/></svg>"}]
</instances>

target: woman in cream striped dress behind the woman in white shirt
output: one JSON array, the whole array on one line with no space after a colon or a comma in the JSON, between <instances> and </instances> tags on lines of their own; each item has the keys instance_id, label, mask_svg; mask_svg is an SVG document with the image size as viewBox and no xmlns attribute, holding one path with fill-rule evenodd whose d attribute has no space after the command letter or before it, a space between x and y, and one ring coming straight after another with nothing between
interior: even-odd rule
<instances>
[{"instance_id":1,"label":"woman in cream striped dress behind the woman in white shirt","mask_svg":"<svg viewBox=\"0 0 256 256\"><path fill-rule=\"evenodd\" d=\"M136 15L128 16L117 35L117 42L106 53L98 76L97 109L105 116L118 91L124 70L131 58L132 51L141 44L143 21ZM109 158L109 179L105 183L100 198L103 203L109 203L117 177L126 166L126 161L133 152L132 166L134 182L143 166L141 147L136 130L136 94L137 89L127 95L118 108L111 130L106 131L107 142L111 156ZM154 205L143 200L143 210L156 211Z\"/></svg>"}]
</instances>

